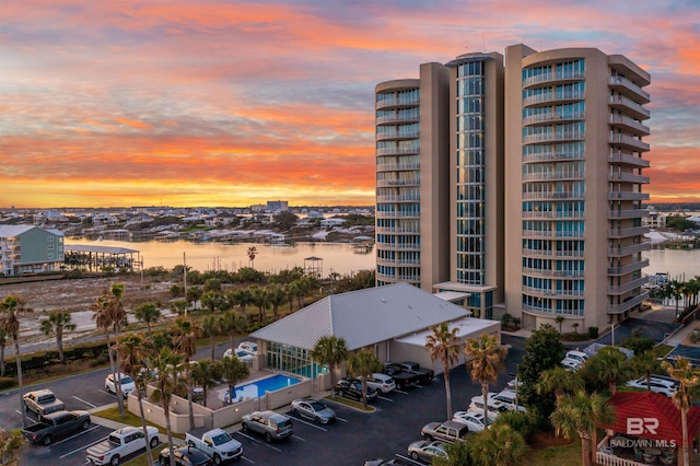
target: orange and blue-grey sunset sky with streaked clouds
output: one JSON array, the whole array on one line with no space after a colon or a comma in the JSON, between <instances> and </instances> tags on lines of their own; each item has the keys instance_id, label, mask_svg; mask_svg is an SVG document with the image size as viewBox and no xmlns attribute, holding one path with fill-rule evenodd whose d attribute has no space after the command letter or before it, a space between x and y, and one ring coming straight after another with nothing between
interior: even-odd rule
<instances>
[{"instance_id":1,"label":"orange and blue-grey sunset sky with streaked clouds","mask_svg":"<svg viewBox=\"0 0 700 466\"><path fill-rule=\"evenodd\" d=\"M652 75L644 187L700 201L698 0L4 0L0 208L374 203L374 86L469 51Z\"/></svg>"}]
</instances>

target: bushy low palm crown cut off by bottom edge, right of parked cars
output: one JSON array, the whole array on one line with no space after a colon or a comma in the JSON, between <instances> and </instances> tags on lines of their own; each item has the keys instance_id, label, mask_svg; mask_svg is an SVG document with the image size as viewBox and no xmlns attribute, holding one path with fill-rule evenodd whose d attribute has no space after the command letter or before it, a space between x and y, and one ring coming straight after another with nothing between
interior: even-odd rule
<instances>
[{"instance_id":1,"label":"bushy low palm crown cut off by bottom edge, right of parked cars","mask_svg":"<svg viewBox=\"0 0 700 466\"><path fill-rule=\"evenodd\" d=\"M504 422L477 432L470 443L472 458L485 465L521 464L527 450L523 435Z\"/></svg>"}]
</instances>

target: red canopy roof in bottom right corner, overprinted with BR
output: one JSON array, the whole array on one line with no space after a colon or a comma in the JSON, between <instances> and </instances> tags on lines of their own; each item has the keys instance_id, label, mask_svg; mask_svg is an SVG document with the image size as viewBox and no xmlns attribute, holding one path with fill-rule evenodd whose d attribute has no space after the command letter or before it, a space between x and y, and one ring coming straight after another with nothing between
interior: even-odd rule
<instances>
[{"instance_id":1,"label":"red canopy roof in bottom right corner, overprinted with BR","mask_svg":"<svg viewBox=\"0 0 700 466\"><path fill-rule=\"evenodd\" d=\"M633 436L675 441L682 444L680 409L673 399L653 392L618 392L608 401L615 408L611 424L598 426ZM688 411L688 438L693 439L700 429L700 408Z\"/></svg>"}]
</instances>

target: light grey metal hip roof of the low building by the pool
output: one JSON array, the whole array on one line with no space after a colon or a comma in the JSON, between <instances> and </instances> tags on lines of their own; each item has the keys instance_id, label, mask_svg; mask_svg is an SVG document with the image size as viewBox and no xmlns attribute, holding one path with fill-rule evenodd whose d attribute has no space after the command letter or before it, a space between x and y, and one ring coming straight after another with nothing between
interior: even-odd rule
<instances>
[{"instance_id":1,"label":"light grey metal hip roof of the low building by the pool","mask_svg":"<svg viewBox=\"0 0 700 466\"><path fill-rule=\"evenodd\" d=\"M326 296L250 336L312 350L318 339L335 335L354 350L467 315L464 307L394 283Z\"/></svg>"}]
</instances>

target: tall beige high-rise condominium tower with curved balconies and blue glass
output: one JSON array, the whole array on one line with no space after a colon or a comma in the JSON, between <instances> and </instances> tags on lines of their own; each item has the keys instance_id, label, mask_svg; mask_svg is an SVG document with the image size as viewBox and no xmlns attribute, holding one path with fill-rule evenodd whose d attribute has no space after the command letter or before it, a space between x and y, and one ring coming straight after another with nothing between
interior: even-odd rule
<instances>
[{"instance_id":1,"label":"tall beige high-rise condominium tower with curved balconies and blue glass","mask_svg":"<svg viewBox=\"0 0 700 466\"><path fill-rule=\"evenodd\" d=\"M629 316L646 298L649 83L619 55L514 45L378 84L377 284L529 328Z\"/></svg>"}]
</instances>

